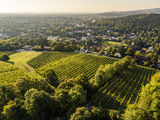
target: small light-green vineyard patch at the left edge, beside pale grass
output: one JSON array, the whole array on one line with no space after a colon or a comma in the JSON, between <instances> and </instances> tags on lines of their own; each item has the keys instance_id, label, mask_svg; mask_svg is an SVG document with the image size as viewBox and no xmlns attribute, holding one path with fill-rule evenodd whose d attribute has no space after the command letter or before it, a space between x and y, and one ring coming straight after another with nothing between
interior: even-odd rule
<instances>
[{"instance_id":1,"label":"small light-green vineyard patch at the left edge, beside pale grass","mask_svg":"<svg viewBox=\"0 0 160 120\"><path fill-rule=\"evenodd\" d=\"M12 63L0 61L0 86L8 83L13 83L24 73L16 68Z\"/></svg>"}]
</instances>

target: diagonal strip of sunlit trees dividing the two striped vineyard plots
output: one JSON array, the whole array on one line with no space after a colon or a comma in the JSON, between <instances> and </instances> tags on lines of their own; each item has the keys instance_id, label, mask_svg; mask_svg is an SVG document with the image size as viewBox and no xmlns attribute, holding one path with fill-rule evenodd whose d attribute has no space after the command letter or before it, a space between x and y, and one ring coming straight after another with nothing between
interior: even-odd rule
<instances>
[{"instance_id":1,"label":"diagonal strip of sunlit trees dividing the two striped vineyard plots","mask_svg":"<svg viewBox=\"0 0 160 120\"><path fill-rule=\"evenodd\" d=\"M123 73L123 71L126 70L131 63L132 58L130 56L126 56L123 59L114 62L112 65L101 65L95 76L90 80L90 83L94 87L101 87L114 76Z\"/></svg>"}]
</instances>

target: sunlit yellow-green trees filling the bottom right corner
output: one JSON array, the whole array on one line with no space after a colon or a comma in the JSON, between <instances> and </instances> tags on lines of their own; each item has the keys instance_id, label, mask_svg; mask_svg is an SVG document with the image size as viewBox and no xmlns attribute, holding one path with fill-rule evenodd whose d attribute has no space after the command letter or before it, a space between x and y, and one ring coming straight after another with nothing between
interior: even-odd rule
<instances>
[{"instance_id":1,"label":"sunlit yellow-green trees filling the bottom right corner","mask_svg":"<svg viewBox=\"0 0 160 120\"><path fill-rule=\"evenodd\" d=\"M139 101L125 110L125 120L159 120L160 118L160 72L142 88Z\"/></svg>"}]
</instances>

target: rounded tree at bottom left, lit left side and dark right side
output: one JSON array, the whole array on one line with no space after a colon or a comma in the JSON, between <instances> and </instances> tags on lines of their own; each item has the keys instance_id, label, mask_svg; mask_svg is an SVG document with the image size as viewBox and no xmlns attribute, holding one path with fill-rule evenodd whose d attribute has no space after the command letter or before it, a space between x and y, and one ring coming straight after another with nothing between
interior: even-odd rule
<instances>
[{"instance_id":1,"label":"rounded tree at bottom left, lit left side and dark right side","mask_svg":"<svg viewBox=\"0 0 160 120\"><path fill-rule=\"evenodd\" d=\"M54 116L54 98L44 91L30 89L25 93L24 107L33 120L46 120Z\"/></svg>"}]
</instances>

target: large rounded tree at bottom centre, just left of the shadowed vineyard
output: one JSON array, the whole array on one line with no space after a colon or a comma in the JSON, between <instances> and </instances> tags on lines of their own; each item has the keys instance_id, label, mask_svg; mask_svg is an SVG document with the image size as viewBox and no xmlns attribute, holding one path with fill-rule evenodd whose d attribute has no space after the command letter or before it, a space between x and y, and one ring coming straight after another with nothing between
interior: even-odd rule
<instances>
[{"instance_id":1,"label":"large rounded tree at bottom centre, just left of the shadowed vineyard","mask_svg":"<svg viewBox=\"0 0 160 120\"><path fill-rule=\"evenodd\" d=\"M86 81L77 81L76 78L60 83L55 92L55 98L62 110L72 111L87 102L87 91L82 86L85 83Z\"/></svg>"}]
</instances>

